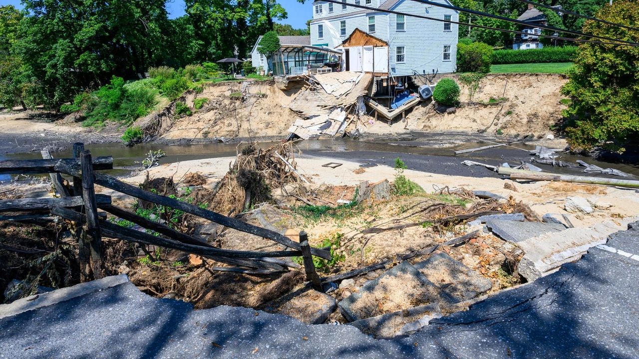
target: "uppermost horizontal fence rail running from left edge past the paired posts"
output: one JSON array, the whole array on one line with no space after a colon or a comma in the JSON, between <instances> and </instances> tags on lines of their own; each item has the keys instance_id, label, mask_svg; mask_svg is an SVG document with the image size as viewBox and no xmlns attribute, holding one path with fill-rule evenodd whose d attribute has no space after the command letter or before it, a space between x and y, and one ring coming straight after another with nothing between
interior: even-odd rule
<instances>
[{"instance_id":1,"label":"uppermost horizontal fence rail running from left edge past the paired posts","mask_svg":"<svg viewBox=\"0 0 639 359\"><path fill-rule=\"evenodd\" d=\"M4 160L0 161L0 174L36 174L58 172L56 164L79 165L79 159ZM113 169L113 157L93 158L93 169Z\"/></svg>"}]
</instances>

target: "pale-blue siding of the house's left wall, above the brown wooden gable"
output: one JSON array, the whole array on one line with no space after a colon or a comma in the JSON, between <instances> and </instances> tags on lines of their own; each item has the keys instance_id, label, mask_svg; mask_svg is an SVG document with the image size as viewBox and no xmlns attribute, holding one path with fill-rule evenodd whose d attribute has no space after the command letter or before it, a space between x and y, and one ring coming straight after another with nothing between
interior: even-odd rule
<instances>
[{"instance_id":1,"label":"pale-blue siding of the house's left wall, above the brown wooden gable","mask_svg":"<svg viewBox=\"0 0 639 359\"><path fill-rule=\"evenodd\" d=\"M375 32L371 33L371 35L386 40L389 35L388 16L385 13L371 12L346 15L339 19L313 20L311 23L311 45L328 43L329 47L337 47L356 28L368 33L368 18L371 16L375 17ZM339 26L341 21L346 21L346 34L344 36L340 34ZM323 38L318 38L318 25L320 24L324 27Z\"/></svg>"}]
</instances>

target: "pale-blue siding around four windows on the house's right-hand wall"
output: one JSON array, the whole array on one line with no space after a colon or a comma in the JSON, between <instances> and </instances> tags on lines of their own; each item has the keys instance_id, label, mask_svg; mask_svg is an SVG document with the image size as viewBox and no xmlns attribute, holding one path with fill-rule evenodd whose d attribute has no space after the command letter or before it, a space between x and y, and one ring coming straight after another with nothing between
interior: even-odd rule
<instances>
[{"instance_id":1,"label":"pale-blue siding around four windows on the house's right-hand wall","mask_svg":"<svg viewBox=\"0 0 639 359\"><path fill-rule=\"evenodd\" d=\"M445 3L442 0L438 3ZM436 19L450 15L452 21L458 21L459 15L454 10L438 8L415 1L405 0L391 10ZM450 32L443 30L444 23L435 20L419 19L406 16L404 31L396 30L396 15L389 14L389 61L390 72L396 76L413 75L418 73L451 73L456 70L458 25L450 24ZM450 45L450 61L443 61L443 47ZM404 46L404 63L396 63L397 46Z\"/></svg>"}]
</instances>

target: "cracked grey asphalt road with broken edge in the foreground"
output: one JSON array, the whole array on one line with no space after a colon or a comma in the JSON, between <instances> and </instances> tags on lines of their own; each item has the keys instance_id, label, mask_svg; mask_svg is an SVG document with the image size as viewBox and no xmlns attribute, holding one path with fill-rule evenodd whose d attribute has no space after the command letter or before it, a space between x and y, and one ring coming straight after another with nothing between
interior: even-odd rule
<instances>
[{"instance_id":1,"label":"cracked grey asphalt road with broken edge in the foreground","mask_svg":"<svg viewBox=\"0 0 639 359\"><path fill-rule=\"evenodd\" d=\"M639 231L606 246L402 339L246 308L192 310L128 282L0 319L0 358L637 358Z\"/></svg>"}]
</instances>

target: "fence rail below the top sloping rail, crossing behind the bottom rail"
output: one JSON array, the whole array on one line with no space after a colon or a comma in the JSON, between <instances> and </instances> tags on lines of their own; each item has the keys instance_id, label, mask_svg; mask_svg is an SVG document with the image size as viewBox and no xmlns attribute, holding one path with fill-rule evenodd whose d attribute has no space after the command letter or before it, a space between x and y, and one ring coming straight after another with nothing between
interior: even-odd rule
<instances>
[{"instance_id":1,"label":"fence rail below the top sloping rail, crossing behind the bottom rail","mask_svg":"<svg viewBox=\"0 0 639 359\"><path fill-rule=\"evenodd\" d=\"M157 233L160 234L164 234L165 236L171 238L172 240L176 240L176 241L180 241L182 243L186 243L186 244L190 244L190 245L197 245L197 246L201 246L201 247L208 247L208 248L215 248L212 245L203 242L203 241L198 241L196 240L196 238L193 238L192 236L189 236L189 234L184 234L181 233L179 231L176 231L175 229L171 228L171 227L167 227L164 224L160 224L158 222L153 222L152 220L148 220L144 217L140 217L138 215L135 215L134 213L130 213L127 210L123 210L122 208L119 208L118 206L113 206L112 204L106 204L104 206L99 206L100 208L102 208L102 210L105 210L109 213L111 213L112 215L116 215L119 218L128 220L130 222L133 222L137 225L140 225L146 229L151 229L152 231L156 231ZM282 267L277 265L277 266L268 266L267 264L265 265L259 265L256 264L255 261L248 261L248 260L244 260L244 259L231 259L231 258L224 258L224 257L215 257L215 256L207 256L208 259L213 259L213 261L217 261L220 263L226 263L226 264L236 264L236 265L240 265L240 266L253 266L253 267L268 267L268 268L272 268L275 270L281 269ZM278 261L275 264L285 264L284 261ZM292 263L293 266L295 266L295 263Z\"/></svg>"}]
</instances>

